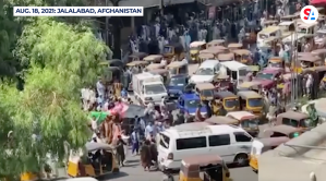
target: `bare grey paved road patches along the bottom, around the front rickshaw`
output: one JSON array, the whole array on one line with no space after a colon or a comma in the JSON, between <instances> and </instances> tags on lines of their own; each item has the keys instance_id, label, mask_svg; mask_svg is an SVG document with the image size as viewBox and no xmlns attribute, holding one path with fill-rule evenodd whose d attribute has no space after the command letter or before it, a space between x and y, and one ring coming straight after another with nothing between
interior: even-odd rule
<instances>
[{"instance_id":1,"label":"bare grey paved road patches along the bottom, around the front rickshaw","mask_svg":"<svg viewBox=\"0 0 326 181\"><path fill-rule=\"evenodd\" d=\"M120 173L111 174L105 178L105 180L111 181L160 181L164 174L160 171L144 171L140 166L138 156L129 156L125 167L121 168ZM254 173L250 167L232 168L231 178L233 181L257 181L258 177ZM178 181L179 177L176 174L174 180Z\"/></svg>"}]
</instances>

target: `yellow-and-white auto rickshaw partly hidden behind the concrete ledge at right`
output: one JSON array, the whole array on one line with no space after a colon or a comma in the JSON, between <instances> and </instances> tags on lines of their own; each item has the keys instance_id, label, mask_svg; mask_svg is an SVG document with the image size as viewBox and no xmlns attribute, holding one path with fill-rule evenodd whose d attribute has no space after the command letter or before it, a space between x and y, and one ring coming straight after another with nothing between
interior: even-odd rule
<instances>
[{"instance_id":1,"label":"yellow-and-white auto rickshaw partly hidden behind the concrete ledge at right","mask_svg":"<svg viewBox=\"0 0 326 181\"><path fill-rule=\"evenodd\" d=\"M258 158L263 153L274 149L280 144L287 143L289 140L290 138L287 136L255 138L252 142L249 161L249 165L253 169L253 171L258 172Z\"/></svg>"}]
</instances>

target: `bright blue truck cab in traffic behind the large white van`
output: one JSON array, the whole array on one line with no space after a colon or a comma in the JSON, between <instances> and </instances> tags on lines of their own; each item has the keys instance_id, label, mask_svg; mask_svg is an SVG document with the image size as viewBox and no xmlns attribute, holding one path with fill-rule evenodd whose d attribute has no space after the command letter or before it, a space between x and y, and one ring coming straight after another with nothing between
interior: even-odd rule
<instances>
[{"instance_id":1,"label":"bright blue truck cab in traffic behind the large white van","mask_svg":"<svg viewBox=\"0 0 326 181\"><path fill-rule=\"evenodd\" d=\"M184 111L185 114L195 116L198 105L201 105L201 98L197 94L183 94L178 99L178 108ZM205 114L207 112L206 107L201 108L201 113Z\"/></svg>"}]
</instances>

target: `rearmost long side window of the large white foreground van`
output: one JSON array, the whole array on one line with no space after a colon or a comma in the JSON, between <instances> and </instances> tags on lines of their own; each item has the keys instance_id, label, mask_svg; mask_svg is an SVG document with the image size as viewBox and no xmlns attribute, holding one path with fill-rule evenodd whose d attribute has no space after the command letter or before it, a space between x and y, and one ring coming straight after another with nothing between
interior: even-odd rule
<instances>
[{"instance_id":1,"label":"rearmost long side window of the large white foreground van","mask_svg":"<svg viewBox=\"0 0 326 181\"><path fill-rule=\"evenodd\" d=\"M177 150L202 147L207 147L206 136L177 140Z\"/></svg>"}]
</instances>

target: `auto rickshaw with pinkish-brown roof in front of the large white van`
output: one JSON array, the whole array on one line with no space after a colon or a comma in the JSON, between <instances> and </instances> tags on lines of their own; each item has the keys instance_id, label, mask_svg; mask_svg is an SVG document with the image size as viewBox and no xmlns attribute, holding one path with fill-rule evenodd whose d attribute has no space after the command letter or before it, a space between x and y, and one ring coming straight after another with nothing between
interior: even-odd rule
<instances>
[{"instance_id":1,"label":"auto rickshaw with pinkish-brown roof in front of the large white van","mask_svg":"<svg viewBox=\"0 0 326 181\"><path fill-rule=\"evenodd\" d=\"M202 179L200 173L204 171ZM230 171L218 155L198 155L182 159L179 181L232 181Z\"/></svg>"}]
</instances>

